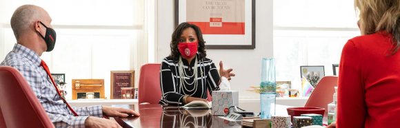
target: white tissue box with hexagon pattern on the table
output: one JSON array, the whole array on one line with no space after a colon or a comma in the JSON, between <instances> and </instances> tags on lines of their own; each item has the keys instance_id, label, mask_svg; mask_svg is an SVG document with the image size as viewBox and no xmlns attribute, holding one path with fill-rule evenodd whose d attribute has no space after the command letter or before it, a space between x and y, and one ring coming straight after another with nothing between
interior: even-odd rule
<instances>
[{"instance_id":1,"label":"white tissue box with hexagon pattern on the table","mask_svg":"<svg viewBox=\"0 0 400 128\"><path fill-rule=\"evenodd\" d=\"M225 116L229 107L239 107L239 92L237 91L213 91L212 115Z\"/></svg>"}]
</instances>

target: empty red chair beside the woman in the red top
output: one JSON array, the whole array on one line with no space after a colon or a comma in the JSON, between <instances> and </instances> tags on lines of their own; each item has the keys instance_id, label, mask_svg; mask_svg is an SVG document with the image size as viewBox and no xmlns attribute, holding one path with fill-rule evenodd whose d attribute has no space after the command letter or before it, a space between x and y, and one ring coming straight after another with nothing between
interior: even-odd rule
<instances>
[{"instance_id":1,"label":"empty red chair beside the woman in the red top","mask_svg":"<svg viewBox=\"0 0 400 128\"><path fill-rule=\"evenodd\" d=\"M305 107L325 108L325 114L328 115L328 104L333 101L334 87L337 86L337 76L325 76L317 83L310 98L308 98Z\"/></svg>"}]
</instances>

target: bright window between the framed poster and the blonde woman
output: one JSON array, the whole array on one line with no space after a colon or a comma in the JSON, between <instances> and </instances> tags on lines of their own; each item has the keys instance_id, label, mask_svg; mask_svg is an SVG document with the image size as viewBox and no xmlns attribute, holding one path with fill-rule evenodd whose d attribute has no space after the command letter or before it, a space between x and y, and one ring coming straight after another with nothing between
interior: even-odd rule
<instances>
[{"instance_id":1,"label":"bright window between the framed poster and the blonde woman","mask_svg":"<svg viewBox=\"0 0 400 128\"><path fill-rule=\"evenodd\" d=\"M300 88L301 65L323 65L332 76L343 45L359 36L354 1L274 0L274 58L277 81Z\"/></svg>"}]
</instances>

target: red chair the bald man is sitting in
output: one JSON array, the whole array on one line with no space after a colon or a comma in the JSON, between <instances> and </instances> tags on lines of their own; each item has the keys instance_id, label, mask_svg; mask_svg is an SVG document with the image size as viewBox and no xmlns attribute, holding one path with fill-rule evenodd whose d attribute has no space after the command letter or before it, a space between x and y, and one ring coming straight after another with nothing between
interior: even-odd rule
<instances>
[{"instance_id":1,"label":"red chair the bald man is sitting in","mask_svg":"<svg viewBox=\"0 0 400 128\"><path fill-rule=\"evenodd\" d=\"M30 85L13 67L0 66L0 127L54 127Z\"/></svg>"}]
</instances>

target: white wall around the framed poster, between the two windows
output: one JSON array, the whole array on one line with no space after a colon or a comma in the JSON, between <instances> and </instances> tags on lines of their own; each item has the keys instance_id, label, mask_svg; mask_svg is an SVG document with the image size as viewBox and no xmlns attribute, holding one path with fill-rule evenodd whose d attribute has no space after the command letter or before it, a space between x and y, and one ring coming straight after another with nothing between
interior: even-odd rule
<instances>
[{"instance_id":1,"label":"white wall around the framed poster, between the two windows","mask_svg":"<svg viewBox=\"0 0 400 128\"><path fill-rule=\"evenodd\" d=\"M174 1L157 1L156 62L170 54L170 40L174 30ZM261 77L261 58L272 57L272 0L256 0L256 48L254 50L207 50L217 67L223 61L224 67L233 68L232 89L239 91L239 98L259 98L259 94L248 92L251 85L259 85ZM243 103L240 102L239 103ZM248 105L240 105L244 109ZM252 105L254 110L259 104Z\"/></svg>"}]
</instances>

